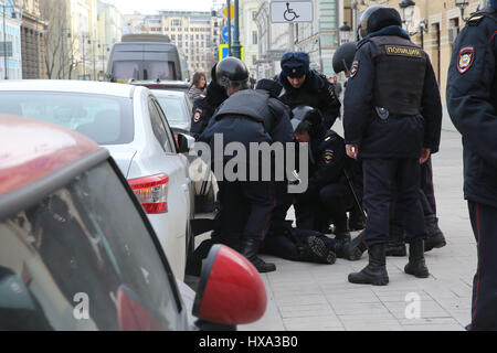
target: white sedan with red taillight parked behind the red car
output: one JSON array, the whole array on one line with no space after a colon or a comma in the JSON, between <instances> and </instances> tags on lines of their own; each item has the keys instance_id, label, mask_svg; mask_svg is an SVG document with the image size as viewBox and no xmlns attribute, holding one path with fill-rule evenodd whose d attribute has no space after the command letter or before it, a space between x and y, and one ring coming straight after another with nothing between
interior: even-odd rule
<instances>
[{"instance_id":1,"label":"white sedan with red taillight parked behind the red car","mask_svg":"<svg viewBox=\"0 0 497 353\"><path fill-rule=\"evenodd\" d=\"M146 87L83 81L4 81L0 113L76 130L107 148L144 206L172 271L184 278L194 247L194 191L187 137L179 150L156 97ZM119 205L116 204L118 208Z\"/></svg>"}]
</instances>

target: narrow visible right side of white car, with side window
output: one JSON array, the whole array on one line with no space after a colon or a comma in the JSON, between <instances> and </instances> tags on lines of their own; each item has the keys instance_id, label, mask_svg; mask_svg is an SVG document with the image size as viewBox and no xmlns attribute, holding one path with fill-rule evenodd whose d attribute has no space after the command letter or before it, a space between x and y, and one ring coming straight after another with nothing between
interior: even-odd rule
<instances>
[{"instance_id":1,"label":"narrow visible right side of white car, with side window","mask_svg":"<svg viewBox=\"0 0 497 353\"><path fill-rule=\"evenodd\" d=\"M169 195L168 195L168 204L169 204L169 214L171 220L171 226L173 227L175 234L178 237L184 237L187 242L188 232L189 232L189 221L190 221L190 197L189 197L189 189L190 189L190 179L188 178L188 161L184 156L177 152L176 141L171 133L171 129L167 124L163 111L161 110L159 103L156 98L150 95L149 96L149 113L152 120L152 124L160 124L160 126L156 127L163 132L165 139L167 139L167 143L163 143L165 148L165 160L163 163L168 163L170 167L169 171ZM183 253L186 254L186 252Z\"/></svg>"}]
</instances>

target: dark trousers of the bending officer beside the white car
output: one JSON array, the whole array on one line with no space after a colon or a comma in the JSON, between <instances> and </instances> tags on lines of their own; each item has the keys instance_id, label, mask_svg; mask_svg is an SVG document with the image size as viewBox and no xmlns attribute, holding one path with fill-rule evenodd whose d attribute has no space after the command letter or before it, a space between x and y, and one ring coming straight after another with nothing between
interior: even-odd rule
<instances>
[{"instance_id":1,"label":"dark trousers of the bending officer beside the white car","mask_svg":"<svg viewBox=\"0 0 497 353\"><path fill-rule=\"evenodd\" d=\"M264 239L275 197L272 182L218 182L221 203L220 240L235 249L243 238Z\"/></svg>"}]
</instances>

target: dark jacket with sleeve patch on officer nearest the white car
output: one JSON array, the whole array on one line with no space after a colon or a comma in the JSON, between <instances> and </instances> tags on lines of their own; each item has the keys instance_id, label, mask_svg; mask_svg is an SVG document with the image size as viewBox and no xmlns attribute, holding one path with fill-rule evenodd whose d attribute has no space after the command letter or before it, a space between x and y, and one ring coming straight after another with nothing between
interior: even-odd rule
<instances>
[{"instance_id":1,"label":"dark jacket with sleeve patch on officer nearest the white car","mask_svg":"<svg viewBox=\"0 0 497 353\"><path fill-rule=\"evenodd\" d=\"M207 88L205 95L193 100L193 108L191 115L191 128L190 133L195 139L203 132L209 125L211 117L214 115L215 109L228 98L225 89L218 85L215 82L211 82Z\"/></svg>"}]
</instances>

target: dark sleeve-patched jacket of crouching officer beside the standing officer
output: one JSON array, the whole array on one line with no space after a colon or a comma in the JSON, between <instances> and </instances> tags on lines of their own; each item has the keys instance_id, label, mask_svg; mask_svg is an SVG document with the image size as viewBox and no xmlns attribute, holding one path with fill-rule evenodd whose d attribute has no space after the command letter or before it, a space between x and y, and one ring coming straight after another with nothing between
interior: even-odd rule
<instances>
[{"instance_id":1,"label":"dark sleeve-patched jacket of crouching officer beside the standing officer","mask_svg":"<svg viewBox=\"0 0 497 353\"><path fill-rule=\"evenodd\" d=\"M304 197L316 195L324 186L346 183L347 162L343 139L334 130L322 131L309 143L309 182Z\"/></svg>"}]
</instances>

